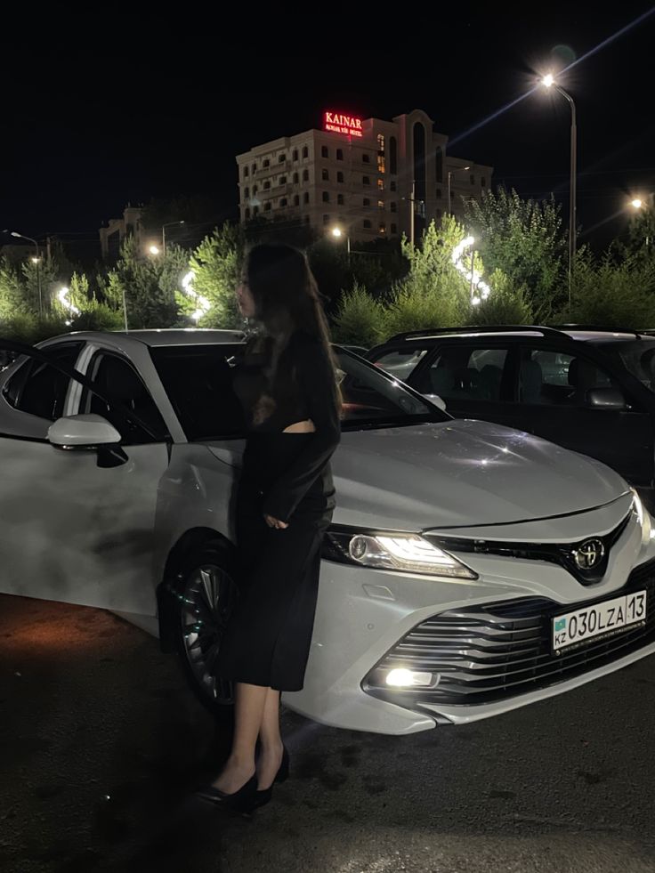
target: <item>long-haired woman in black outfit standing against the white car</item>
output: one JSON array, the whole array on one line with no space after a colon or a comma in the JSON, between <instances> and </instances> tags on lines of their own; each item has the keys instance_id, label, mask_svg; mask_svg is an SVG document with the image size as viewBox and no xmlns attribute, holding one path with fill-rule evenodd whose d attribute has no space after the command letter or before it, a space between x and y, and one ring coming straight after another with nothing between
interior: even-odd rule
<instances>
[{"instance_id":1,"label":"long-haired woman in black outfit standing against the white car","mask_svg":"<svg viewBox=\"0 0 655 873\"><path fill-rule=\"evenodd\" d=\"M235 683L235 733L221 774L199 793L249 812L287 777L279 695L303 687L341 429L327 322L304 255L253 248L237 297L264 335L234 375L248 424L237 497L242 579L217 674Z\"/></svg>"}]
</instances>

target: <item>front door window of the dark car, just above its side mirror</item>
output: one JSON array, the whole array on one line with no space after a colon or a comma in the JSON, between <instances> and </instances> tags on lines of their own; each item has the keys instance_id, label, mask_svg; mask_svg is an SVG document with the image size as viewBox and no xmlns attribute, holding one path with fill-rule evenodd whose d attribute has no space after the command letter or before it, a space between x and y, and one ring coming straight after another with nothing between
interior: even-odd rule
<instances>
[{"instance_id":1,"label":"front door window of the dark car, just above its side mirror","mask_svg":"<svg viewBox=\"0 0 655 873\"><path fill-rule=\"evenodd\" d=\"M523 350L519 365L519 400L550 406L586 407L596 388L619 384L594 361L550 349Z\"/></svg>"}]
</instances>

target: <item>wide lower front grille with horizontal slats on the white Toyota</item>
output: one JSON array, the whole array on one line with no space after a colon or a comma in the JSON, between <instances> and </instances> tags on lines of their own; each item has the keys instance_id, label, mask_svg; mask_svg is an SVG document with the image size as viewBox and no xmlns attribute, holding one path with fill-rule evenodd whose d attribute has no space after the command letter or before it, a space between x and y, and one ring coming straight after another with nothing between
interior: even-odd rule
<instances>
[{"instance_id":1,"label":"wide lower front grille with horizontal slats on the white Toyota","mask_svg":"<svg viewBox=\"0 0 655 873\"><path fill-rule=\"evenodd\" d=\"M648 591L645 621L560 655L551 651L551 619L630 591ZM595 601L562 605L541 597L449 610L414 627L366 676L369 694L401 706L474 706L511 699L611 664L655 641L655 561L633 571L626 586ZM392 688L397 667L439 674L436 687Z\"/></svg>"}]
</instances>

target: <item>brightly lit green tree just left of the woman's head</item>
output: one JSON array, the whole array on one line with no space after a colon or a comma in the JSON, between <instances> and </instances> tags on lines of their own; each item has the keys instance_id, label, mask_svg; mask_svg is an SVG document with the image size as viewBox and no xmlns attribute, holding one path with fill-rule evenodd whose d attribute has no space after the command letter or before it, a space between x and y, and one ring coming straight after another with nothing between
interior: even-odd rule
<instances>
[{"instance_id":1,"label":"brightly lit green tree just left of the woman's head","mask_svg":"<svg viewBox=\"0 0 655 873\"><path fill-rule=\"evenodd\" d=\"M243 327L244 319L236 299L243 256L243 233L238 226L229 222L225 222L222 228L216 228L191 255L193 290L204 297L210 307L206 315L198 320L200 327ZM187 315L198 309L195 298L187 301L182 299L180 302L182 311Z\"/></svg>"}]
</instances>

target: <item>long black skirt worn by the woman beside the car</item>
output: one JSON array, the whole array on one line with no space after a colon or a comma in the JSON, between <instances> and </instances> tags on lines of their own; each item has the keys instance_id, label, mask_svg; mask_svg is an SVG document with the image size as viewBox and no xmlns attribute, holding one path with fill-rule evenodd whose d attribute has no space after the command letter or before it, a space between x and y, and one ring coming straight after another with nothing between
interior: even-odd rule
<instances>
[{"instance_id":1,"label":"long black skirt worn by the woman beside the car","mask_svg":"<svg viewBox=\"0 0 655 873\"><path fill-rule=\"evenodd\" d=\"M223 679L278 691L303 688L321 546L335 506L326 467L297 505L287 529L270 528L264 521L266 489L302 449L304 438L262 434L248 441L236 507L239 600L216 669Z\"/></svg>"}]
</instances>

